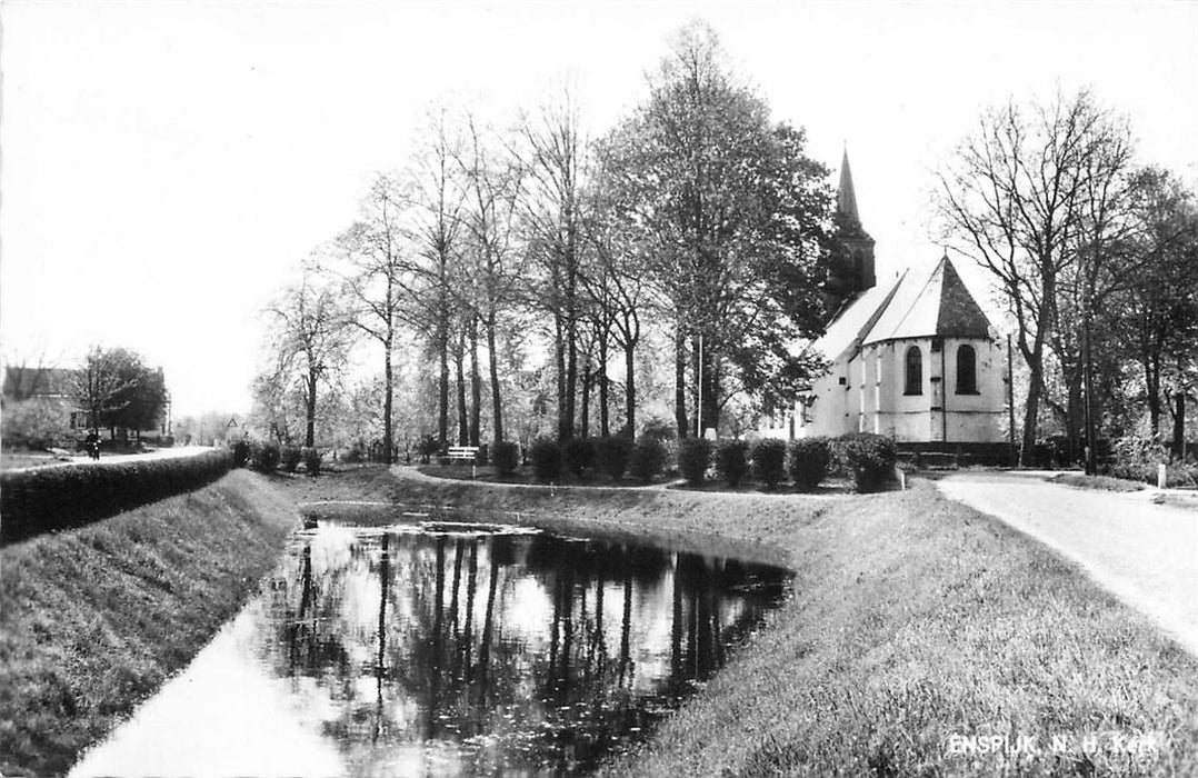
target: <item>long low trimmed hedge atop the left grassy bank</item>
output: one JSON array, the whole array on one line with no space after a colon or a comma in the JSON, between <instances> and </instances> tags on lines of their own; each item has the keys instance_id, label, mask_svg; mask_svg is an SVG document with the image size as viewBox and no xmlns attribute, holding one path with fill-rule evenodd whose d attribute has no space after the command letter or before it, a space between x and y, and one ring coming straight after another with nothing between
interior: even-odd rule
<instances>
[{"instance_id":1,"label":"long low trimmed hedge atop the left grassy bank","mask_svg":"<svg viewBox=\"0 0 1198 778\"><path fill-rule=\"evenodd\" d=\"M232 469L234 452L0 474L0 544L68 530L207 486Z\"/></svg>"}]
</instances>

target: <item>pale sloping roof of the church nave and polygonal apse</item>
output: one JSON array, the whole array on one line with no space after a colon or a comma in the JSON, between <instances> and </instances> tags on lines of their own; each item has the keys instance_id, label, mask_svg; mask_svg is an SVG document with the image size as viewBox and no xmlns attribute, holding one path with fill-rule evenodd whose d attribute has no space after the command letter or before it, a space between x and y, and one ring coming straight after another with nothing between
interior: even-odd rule
<instances>
[{"instance_id":1,"label":"pale sloping roof of the church nave and polygonal apse","mask_svg":"<svg viewBox=\"0 0 1198 778\"><path fill-rule=\"evenodd\" d=\"M990 319L945 255L930 276L904 271L893 284L866 290L812 344L828 360L863 345L901 338L987 338Z\"/></svg>"}]
</instances>

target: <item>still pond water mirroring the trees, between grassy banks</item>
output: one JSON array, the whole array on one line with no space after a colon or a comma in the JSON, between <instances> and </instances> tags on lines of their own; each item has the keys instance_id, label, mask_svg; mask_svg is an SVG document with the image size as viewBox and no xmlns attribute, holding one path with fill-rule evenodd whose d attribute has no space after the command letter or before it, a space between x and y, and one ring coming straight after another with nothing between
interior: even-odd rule
<instances>
[{"instance_id":1,"label":"still pond water mirroring the trees, between grassy banks","mask_svg":"<svg viewBox=\"0 0 1198 778\"><path fill-rule=\"evenodd\" d=\"M413 511L320 520L72 774L585 772L722 667L787 585L774 567Z\"/></svg>"}]
</instances>

